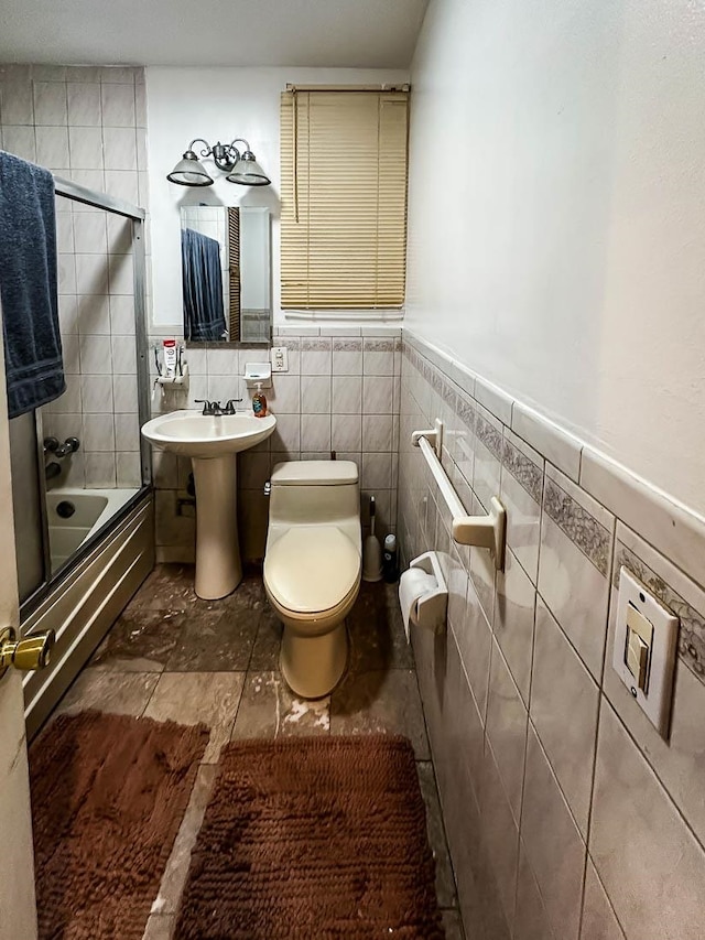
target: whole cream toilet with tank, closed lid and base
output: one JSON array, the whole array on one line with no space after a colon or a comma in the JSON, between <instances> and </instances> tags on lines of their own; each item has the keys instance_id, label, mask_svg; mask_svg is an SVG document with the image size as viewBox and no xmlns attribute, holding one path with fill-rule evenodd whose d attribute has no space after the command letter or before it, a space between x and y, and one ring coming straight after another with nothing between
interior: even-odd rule
<instances>
[{"instance_id":1,"label":"whole cream toilet with tank, closed lid and base","mask_svg":"<svg viewBox=\"0 0 705 940\"><path fill-rule=\"evenodd\" d=\"M270 484L264 590L284 625L281 670L297 695L319 699L345 672L345 618L360 587L357 465L291 461Z\"/></svg>"}]
</instances>

